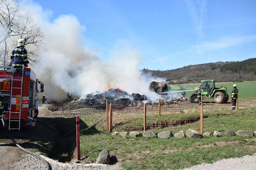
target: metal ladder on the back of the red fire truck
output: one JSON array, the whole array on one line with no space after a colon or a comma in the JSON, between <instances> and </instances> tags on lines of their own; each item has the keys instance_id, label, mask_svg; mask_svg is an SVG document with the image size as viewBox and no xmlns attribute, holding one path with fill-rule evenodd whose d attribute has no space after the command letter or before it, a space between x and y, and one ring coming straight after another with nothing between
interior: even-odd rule
<instances>
[{"instance_id":1,"label":"metal ladder on the back of the red fire truck","mask_svg":"<svg viewBox=\"0 0 256 170\"><path fill-rule=\"evenodd\" d=\"M13 72L13 68L12 68L12 72ZM15 79L15 78L17 78L17 77L13 77L13 74L12 74L12 82L11 82L11 98L10 98L10 112L9 112L9 130L11 130L11 129L18 129L18 130L20 130L20 118L21 118L21 110L22 110L22 86L23 86L23 70L24 70L24 66L22 67L22 77L21 77L21 79ZM12 87L13 86L13 82L14 81L20 81L21 82L21 87ZM13 90L12 89L19 89L19 91L20 91L20 96L17 96L17 94L16 95L13 95L12 94L12 92L13 92ZM17 97L20 97L20 101L18 101L19 103L17 104ZM16 103L12 103L12 98L16 98ZM12 111L12 105L16 105L16 107L17 107L17 105L19 105L20 106L20 111L17 111L17 112L15 112L15 111ZM17 114L19 114L19 117L12 117L12 114L14 114L14 115L17 115ZM14 119L14 120L13 120ZM15 120L16 119L16 120ZM18 120L17 120L18 119ZM11 128L11 122L19 122L19 128Z\"/></svg>"}]
</instances>

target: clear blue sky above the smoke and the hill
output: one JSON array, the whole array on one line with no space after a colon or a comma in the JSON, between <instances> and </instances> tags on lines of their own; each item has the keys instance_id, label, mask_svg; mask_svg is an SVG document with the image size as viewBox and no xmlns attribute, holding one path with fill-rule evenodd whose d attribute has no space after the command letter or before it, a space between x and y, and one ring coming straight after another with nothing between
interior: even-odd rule
<instances>
[{"instance_id":1,"label":"clear blue sky above the smoke and the hill","mask_svg":"<svg viewBox=\"0 0 256 170\"><path fill-rule=\"evenodd\" d=\"M140 69L256 57L255 0L35 0L52 19L72 14L86 27L87 46L107 60L124 44L142 53Z\"/></svg>"}]
</instances>

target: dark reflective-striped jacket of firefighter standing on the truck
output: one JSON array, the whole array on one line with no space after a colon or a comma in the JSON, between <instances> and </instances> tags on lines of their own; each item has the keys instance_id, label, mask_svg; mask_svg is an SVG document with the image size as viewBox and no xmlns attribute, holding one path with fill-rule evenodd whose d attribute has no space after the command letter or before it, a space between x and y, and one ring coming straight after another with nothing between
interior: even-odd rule
<instances>
[{"instance_id":1,"label":"dark reflective-striped jacket of firefighter standing on the truck","mask_svg":"<svg viewBox=\"0 0 256 170\"><path fill-rule=\"evenodd\" d=\"M11 60L12 66L23 66L23 64L28 64L27 50L23 46L16 46L12 51Z\"/></svg>"}]
</instances>

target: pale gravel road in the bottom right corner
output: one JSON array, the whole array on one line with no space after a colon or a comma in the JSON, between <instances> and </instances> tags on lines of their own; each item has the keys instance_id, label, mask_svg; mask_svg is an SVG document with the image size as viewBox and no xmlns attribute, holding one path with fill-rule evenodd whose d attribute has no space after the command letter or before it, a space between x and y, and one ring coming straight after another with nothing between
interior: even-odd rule
<instances>
[{"instance_id":1,"label":"pale gravel road in the bottom right corner","mask_svg":"<svg viewBox=\"0 0 256 170\"><path fill-rule=\"evenodd\" d=\"M201 164L192 166L190 168L185 168L183 170L234 170L234 169L246 169L255 170L256 169L256 154L249 156L246 155L241 158L230 158L221 159L212 164Z\"/></svg>"}]
</instances>

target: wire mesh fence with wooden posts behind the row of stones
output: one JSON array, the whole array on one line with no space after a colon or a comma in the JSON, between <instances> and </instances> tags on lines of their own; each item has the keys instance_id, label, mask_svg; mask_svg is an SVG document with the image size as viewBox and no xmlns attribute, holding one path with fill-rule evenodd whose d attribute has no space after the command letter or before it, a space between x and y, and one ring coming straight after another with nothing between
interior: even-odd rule
<instances>
[{"instance_id":1,"label":"wire mesh fence with wooden posts behind the row of stones","mask_svg":"<svg viewBox=\"0 0 256 170\"><path fill-rule=\"evenodd\" d=\"M255 116L255 113L247 113L250 116L244 118L241 112L232 112L230 104L212 104L206 103L205 105L161 105L159 100L158 105L150 105L149 103L137 105L125 104L112 104L106 103L107 108L107 124L108 131L147 131L152 129L176 130L177 128L184 127L191 128L203 133L203 128L208 130L211 127L211 119L204 119L209 117L223 117L223 121L232 114L237 115L237 121L230 121L230 124L241 124L247 119ZM255 108L254 105L241 104L238 109L250 110ZM227 117L225 117L227 116ZM206 120L203 122L203 119ZM216 119L217 120L217 119ZM214 121L216 121L214 119ZM226 122L227 123L227 122ZM237 125L237 127L239 127ZM251 123L253 127L253 123ZM220 121L220 128L222 128ZM182 128L181 128L182 129ZM223 128L222 128L223 129ZM205 131L204 130L204 131Z\"/></svg>"}]
</instances>

